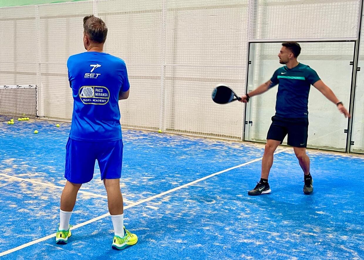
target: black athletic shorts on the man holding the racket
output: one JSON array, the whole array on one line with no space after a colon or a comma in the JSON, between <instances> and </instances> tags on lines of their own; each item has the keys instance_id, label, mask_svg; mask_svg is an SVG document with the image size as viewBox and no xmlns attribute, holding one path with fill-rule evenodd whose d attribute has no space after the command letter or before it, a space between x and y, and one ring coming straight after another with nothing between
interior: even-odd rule
<instances>
[{"instance_id":1,"label":"black athletic shorts on the man holding the racket","mask_svg":"<svg viewBox=\"0 0 364 260\"><path fill-rule=\"evenodd\" d=\"M293 147L307 147L308 118L272 117L267 139L282 141L288 134L287 144Z\"/></svg>"}]
</instances>

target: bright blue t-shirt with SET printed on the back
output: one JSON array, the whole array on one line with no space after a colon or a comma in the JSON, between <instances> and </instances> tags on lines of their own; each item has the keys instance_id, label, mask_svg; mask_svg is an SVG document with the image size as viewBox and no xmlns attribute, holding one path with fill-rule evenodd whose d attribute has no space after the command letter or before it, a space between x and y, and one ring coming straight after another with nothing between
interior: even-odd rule
<instances>
[{"instance_id":1,"label":"bright blue t-shirt with SET printed on the back","mask_svg":"<svg viewBox=\"0 0 364 260\"><path fill-rule=\"evenodd\" d=\"M103 52L83 52L69 57L67 68L74 99L70 138L122 139L119 92L130 88L124 61Z\"/></svg>"}]
</instances>

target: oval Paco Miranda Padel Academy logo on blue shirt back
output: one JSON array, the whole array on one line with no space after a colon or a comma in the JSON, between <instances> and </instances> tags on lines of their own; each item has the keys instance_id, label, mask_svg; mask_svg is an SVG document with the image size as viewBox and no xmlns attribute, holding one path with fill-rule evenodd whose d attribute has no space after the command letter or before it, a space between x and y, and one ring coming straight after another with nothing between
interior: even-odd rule
<instances>
[{"instance_id":1,"label":"oval Paco Miranda Padel Academy logo on blue shirt back","mask_svg":"<svg viewBox=\"0 0 364 260\"><path fill-rule=\"evenodd\" d=\"M82 86L78 95L83 104L105 105L110 98L110 91L101 86Z\"/></svg>"}]
</instances>

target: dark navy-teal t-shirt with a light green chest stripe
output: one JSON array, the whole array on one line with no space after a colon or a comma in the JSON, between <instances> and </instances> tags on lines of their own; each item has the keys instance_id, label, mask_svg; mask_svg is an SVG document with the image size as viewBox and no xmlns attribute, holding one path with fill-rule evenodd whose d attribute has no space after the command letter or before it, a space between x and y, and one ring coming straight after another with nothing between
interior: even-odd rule
<instances>
[{"instance_id":1,"label":"dark navy-teal t-shirt with a light green chest stripe","mask_svg":"<svg viewBox=\"0 0 364 260\"><path fill-rule=\"evenodd\" d=\"M270 81L278 84L276 116L283 118L308 117L308 94L310 86L320 80L316 71L299 63L289 69L277 69Z\"/></svg>"}]
</instances>

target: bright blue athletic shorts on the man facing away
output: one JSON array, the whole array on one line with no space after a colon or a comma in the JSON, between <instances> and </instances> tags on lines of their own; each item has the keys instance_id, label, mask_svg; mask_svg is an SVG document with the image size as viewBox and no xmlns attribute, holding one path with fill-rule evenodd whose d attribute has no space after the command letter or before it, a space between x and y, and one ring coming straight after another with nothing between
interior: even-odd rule
<instances>
[{"instance_id":1,"label":"bright blue athletic shorts on the man facing away","mask_svg":"<svg viewBox=\"0 0 364 260\"><path fill-rule=\"evenodd\" d=\"M94 177L98 160L101 180L119 179L123 161L123 140L77 141L68 138L64 177L71 183L87 183Z\"/></svg>"}]
</instances>

